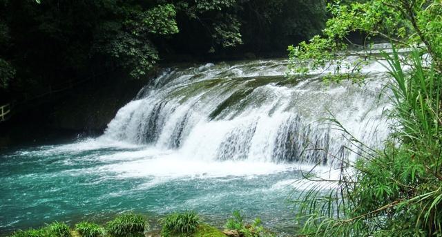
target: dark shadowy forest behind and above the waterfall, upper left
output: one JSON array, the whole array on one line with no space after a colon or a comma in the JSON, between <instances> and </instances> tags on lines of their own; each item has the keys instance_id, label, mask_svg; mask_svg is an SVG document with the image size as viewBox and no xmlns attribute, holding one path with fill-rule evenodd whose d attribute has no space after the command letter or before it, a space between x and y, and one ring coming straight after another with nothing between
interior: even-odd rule
<instances>
[{"instance_id":1,"label":"dark shadowy forest behind and above the waterfall, upper left","mask_svg":"<svg viewBox=\"0 0 442 237\"><path fill-rule=\"evenodd\" d=\"M283 57L327 17L320 0L2 0L0 15L3 103L164 61Z\"/></svg>"}]
</instances>

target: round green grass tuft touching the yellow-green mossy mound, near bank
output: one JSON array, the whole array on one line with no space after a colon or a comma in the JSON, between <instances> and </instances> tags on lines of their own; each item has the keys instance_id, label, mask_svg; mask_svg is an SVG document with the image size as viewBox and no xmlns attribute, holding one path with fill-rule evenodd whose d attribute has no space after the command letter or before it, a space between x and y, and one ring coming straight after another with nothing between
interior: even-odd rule
<instances>
[{"instance_id":1,"label":"round green grass tuft touching the yellow-green mossy mound, near bank","mask_svg":"<svg viewBox=\"0 0 442 237\"><path fill-rule=\"evenodd\" d=\"M166 216L162 221L162 236L170 234L192 234L200 225L200 216L195 211L185 211Z\"/></svg>"}]
</instances>

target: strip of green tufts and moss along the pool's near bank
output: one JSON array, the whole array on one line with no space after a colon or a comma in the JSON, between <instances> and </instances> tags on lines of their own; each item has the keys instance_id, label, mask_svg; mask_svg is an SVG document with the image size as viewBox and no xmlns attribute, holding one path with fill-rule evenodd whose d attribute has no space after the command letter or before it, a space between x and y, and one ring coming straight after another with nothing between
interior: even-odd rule
<instances>
[{"instance_id":1,"label":"strip of green tufts and moss along the pool's near bank","mask_svg":"<svg viewBox=\"0 0 442 237\"><path fill-rule=\"evenodd\" d=\"M36 229L15 230L0 236L11 237L119 237L119 236L146 236L146 237L271 237L276 233L269 231L262 225L260 218L247 223L244 214L233 211L231 218L226 219L222 227L216 227L204 222L194 211L173 213L160 219L148 219L146 216L126 212L118 214L101 225L90 221L81 221L74 224L68 222L52 222L41 225ZM282 235L278 235L282 236Z\"/></svg>"}]
</instances>

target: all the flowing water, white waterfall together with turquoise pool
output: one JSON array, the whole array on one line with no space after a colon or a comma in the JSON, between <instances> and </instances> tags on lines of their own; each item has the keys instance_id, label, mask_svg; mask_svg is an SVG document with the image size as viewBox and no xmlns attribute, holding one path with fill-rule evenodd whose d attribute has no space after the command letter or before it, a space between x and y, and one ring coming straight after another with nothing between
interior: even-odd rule
<instances>
[{"instance_id":1,"label":"all the flowing water, white waterfall together with turquoise pool","mask_svg":"<svg viewBox=\"0 0 442 237\"><path fill-rule=\"evenodd\" d=\"M326 85L319 71L287 79L286 70L278 59L170 68L99 138L2 153L0 232L36 220L184 209L218 224L242 209L270 227L291 227L285 200L299 169L320 164L330 176L340 159L357 157L323 119L333 115L354 137L380 146L388 104L378 63L364 68L363 85Z\"/></svg>"}]
</instances>

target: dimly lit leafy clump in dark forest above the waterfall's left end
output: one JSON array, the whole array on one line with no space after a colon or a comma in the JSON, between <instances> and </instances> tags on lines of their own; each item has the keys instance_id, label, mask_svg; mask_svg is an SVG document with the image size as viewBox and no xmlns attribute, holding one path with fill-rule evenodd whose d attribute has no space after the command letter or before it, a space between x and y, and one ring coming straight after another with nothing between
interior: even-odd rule
<instances>
[{"instance_id":1,"label":"dimly lit leafy clump in dark forest above the waterfall's left end","mask_svg":"<svg viewBox=\"0 0 442 237\"><path fill-rule=\"evenodd\" d=\"M151 36L178 32L175 7L165 4L144 10L141 6L123 5L113 10L117 17L97 25L93 55L107 57L108 64L122 67L131 77L138 78L159 59Z\"/></svg>"}]
</instances>

